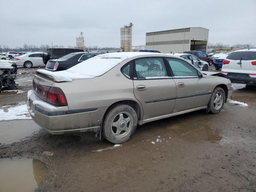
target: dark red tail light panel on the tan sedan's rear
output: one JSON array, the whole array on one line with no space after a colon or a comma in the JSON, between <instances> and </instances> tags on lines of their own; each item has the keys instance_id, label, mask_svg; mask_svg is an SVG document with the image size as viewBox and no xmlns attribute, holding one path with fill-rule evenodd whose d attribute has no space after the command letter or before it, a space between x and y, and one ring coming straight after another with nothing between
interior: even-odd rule
<instances>
[{"instance_id":1,"label":"dark red tail light panel on the tan sedan's rear","mask_svg":"<svg viewBox=\"0 0 256 192\"><path fill-rule=\"evenodd\" d=\"M36 96L55 106L67 106L67 100L64 92L58 87L50 87L36 84L33 81L33 89Z\"/></svg>"}]
</instances>

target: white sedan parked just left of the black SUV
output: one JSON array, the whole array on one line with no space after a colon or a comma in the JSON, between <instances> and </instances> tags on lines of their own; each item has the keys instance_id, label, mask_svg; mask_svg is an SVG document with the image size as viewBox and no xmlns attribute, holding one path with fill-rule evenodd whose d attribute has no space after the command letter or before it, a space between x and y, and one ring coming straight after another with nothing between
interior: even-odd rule
<instances>
[{"instance_id":1,"label":"white sedan parked just left of the black SUV","mask_svg":"<svg viewBox=\"0 0 256 192\"><path fill-rule=\"evenodd\" d=\"M43 63L42 52L27 53L18 57L14 57L17 66L23 66L26 68L45 66Z\"/></svg>"}]
</instances>

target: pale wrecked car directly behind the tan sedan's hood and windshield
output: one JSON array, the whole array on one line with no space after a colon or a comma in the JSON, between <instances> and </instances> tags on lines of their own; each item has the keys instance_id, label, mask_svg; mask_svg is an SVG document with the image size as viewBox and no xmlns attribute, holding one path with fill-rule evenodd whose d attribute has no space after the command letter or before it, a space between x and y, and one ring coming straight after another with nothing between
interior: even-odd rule
<instances>
[{"instance_id":1,"label":"pale wrecked car directly behind the tan sedan's hood and windshield","mask_svg":"<svg viewBox=\"0 0 256 192\"><path fill-rule=\"evenodd\" d=\"M173 55L176 55L176 56L186 59L190 64L194 65L196 68L199 68L200 71L208 71L209 70L208 62L200 60L192 54L174 53Z\"/></svg>"}]
</instances>

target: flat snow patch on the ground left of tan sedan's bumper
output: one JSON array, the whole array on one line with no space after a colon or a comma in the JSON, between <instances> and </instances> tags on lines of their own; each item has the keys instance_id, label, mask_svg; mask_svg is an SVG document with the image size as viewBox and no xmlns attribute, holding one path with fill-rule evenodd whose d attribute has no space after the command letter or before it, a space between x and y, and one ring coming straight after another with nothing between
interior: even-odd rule
<instances>
[{"instance_id":1,"label":"flat snow patch on the ground left of tan sedan's bumper","mask_svg":"<svg viewBox=\"0 0 256 192\"><path fill-rule=\"evenodd\" d=\"M26 104L14 107L3 106L2 108L0 108L0 121L14 119L31 119L30 115L28 114Z\"/></svg>"}]
</instances>

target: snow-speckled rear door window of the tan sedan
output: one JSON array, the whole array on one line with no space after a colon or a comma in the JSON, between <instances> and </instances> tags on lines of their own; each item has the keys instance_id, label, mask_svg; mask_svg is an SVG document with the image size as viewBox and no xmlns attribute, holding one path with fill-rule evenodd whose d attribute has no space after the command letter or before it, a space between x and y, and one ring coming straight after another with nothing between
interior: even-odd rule
<instances>
[{"instance_id":1,"label":"snow-speckled rear door window of the tan sedan","mask_svg":"<svg viewBox=\"0 0 256 192\"><path fill-rule=\"evenodd\" d=\"M135 70L139 80L168 77L162 58L137 59L135 60Z\"/></svg>"}]
</instances>

